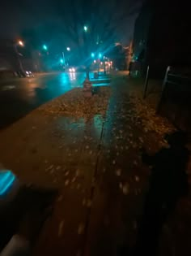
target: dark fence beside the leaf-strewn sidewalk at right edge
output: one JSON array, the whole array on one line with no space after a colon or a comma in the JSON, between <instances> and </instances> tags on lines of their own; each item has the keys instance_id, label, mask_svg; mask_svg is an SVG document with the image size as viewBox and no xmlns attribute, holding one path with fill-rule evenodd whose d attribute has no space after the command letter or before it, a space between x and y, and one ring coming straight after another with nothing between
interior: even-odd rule
<instances>
[{"instance_id":1,"label":"dark fence beside the leaf-strewn sidewalk at right edge","mask_svg":"<svg viewBox=\"0 0 191 256\"><path fill-rule=\"evenodd\" d=\"M177 128L191 132L191 78L167 68L157 112Z\"/></svg>"}]
</instances>

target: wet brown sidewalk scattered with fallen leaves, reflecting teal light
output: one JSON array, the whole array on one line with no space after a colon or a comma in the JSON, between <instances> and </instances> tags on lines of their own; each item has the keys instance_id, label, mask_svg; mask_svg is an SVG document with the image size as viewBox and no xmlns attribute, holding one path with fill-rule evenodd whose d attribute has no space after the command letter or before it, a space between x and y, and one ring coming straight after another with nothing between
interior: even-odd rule
<instances>
[{"instance_id":1,"label":"wet brown sidewalk scattered with fallen leaves, reflecting teal light","mask_svg":"<svg viewBox=\"0 0 191 256\"><path fill-rule=\"evenodd\" d=\"M132 89L124 77L112 77L111 87L104 119L95 115L75 120L33 111L0 134L0 162L28 183L60 191L36 256L114 256L121 243L134 245L150 175L139 149L159 150L165 145L163 133L173 128L158 117L163 129L155 124L146 128L151 115L138 115L134 104L140 101L129 97ZM146 112L153 113L148 107ZM166 228L170 243L163 235L162 252L169 249L173 255L176 249L182 256L183 247L189 251L190 212L190 202L179 206ZM177 223L184 239L179 239Z\"/></svg>"}]
</instances>

